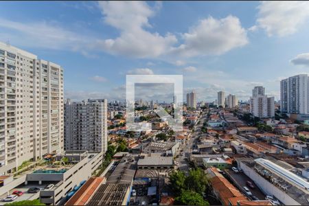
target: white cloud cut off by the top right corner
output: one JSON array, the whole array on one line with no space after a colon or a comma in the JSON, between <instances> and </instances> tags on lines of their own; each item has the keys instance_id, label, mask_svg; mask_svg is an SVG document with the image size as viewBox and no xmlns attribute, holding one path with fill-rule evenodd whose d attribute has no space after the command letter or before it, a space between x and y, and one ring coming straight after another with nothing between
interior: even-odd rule
<instances>
[{"instance_id":1,"label":"white cloud cut off by the top right corner","mask_svg":"<svg viewBox=\"0 0 309 206\"><path fill-rule=\"evenodd\" d=\"M309 19L308 1L262 1L258 9L258 26L268 36L293 34Z\"/></svg>"}]
</instances>

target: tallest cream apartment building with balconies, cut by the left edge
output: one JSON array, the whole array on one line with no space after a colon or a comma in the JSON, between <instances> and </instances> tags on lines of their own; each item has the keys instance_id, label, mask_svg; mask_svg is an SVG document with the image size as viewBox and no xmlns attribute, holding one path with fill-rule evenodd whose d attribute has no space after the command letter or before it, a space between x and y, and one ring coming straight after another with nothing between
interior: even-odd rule
<instances>
[{"instance_id":1,"label":"tallest cream apartment building with balconies, cut by the left edge","mask_svg":"<svg viewBox=\"0 0 309 206\"><path fill-rule=\"evenodd\" d=\"M0 174L64 147L63 70L0 43Z\"/></svg>"}]
</instances>

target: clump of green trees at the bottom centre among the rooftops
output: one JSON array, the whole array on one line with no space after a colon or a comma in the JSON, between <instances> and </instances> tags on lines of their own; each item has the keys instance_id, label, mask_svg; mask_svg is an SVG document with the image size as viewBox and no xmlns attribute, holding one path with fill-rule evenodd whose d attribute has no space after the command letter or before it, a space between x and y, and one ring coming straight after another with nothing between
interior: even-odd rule
<instances>
[{"instance_id":1,"label":"clump of green trees at the bottom centre among the rooftops","mask_svg":"<svg viewBox=\"0 0 309 206\"><path fill-rule=\"evenodd\" d=\"M173 171L170 174L170 187L176 194L176 205L209 205L203 198L209 180L201 168L190 170L188 176L182 171Z\"/></svg>"}]
</instances>

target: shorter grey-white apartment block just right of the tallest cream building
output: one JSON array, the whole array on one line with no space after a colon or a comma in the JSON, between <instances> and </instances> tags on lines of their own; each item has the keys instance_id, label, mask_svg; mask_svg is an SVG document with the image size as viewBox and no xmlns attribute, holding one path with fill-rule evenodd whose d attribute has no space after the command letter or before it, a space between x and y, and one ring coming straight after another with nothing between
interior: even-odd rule
<instances>
[{"instance_id":1,"label":"shorter grey-white apartment block just right of the tallest cream building","mask_svg":"<svg viewBox=\"0 0 309 206\"><path fill-rule=\"evenodd\" d=\"M107 100L65 102L65 150L107 150Z\"/></svg>"}]
</instances>

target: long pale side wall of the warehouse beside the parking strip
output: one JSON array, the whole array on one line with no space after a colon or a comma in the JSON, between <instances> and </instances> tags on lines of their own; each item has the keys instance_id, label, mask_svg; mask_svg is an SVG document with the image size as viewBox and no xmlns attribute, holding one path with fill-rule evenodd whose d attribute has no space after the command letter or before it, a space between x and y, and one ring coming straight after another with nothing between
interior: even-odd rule
<instances>
[{"instance_id":1,"label":"long pale side wall of the warehouse beside the parking strip","mask_svg":"<svg viewBox=\"0 0 309 206\"><path fill-rule=\"evenodd\" d=\"M262 190L265 194L275 196L275 198L284 203L284 205L301 205L297 203L297 201L295 201L293 198L288 196L285 192L280 190L278 187L264 179L264 177L260 176L260 174L258 174L258 172L255 172L253 168L249 168L246 164L242 162L239 162L239 166L244 171L244 174L249 176L249 178L254 181L255 185L257 185L260 190Z\"/></svg>"}]
</instances>

